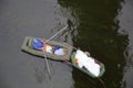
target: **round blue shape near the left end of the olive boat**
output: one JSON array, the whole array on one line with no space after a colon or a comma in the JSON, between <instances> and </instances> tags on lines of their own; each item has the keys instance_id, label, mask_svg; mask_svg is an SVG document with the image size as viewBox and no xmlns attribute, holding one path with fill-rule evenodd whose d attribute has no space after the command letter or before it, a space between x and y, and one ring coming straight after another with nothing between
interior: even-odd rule
<instances>
[{"instance_id":1,"label":"round blue shape near the left end of the olive boat","mask_svg":"<svg viewBox=\"0 0 133 88\"><path fill-rule=\"evenodd\" d=\"M41 50L44 46L43 42L40 38L34 38L32 42L32 46L35 50Z\"/></svg>"}]
</instances>

